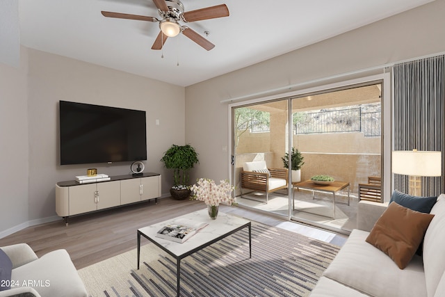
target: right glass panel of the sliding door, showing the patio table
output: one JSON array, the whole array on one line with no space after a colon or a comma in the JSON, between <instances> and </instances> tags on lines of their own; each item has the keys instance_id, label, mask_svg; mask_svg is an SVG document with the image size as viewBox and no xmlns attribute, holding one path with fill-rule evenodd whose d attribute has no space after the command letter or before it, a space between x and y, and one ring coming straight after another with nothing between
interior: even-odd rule
<instances>
[{"instance_id":1,"label":"right glass panel of the sliding door, showing the patio table","mask_svg":"<svg viewBox=\"0 0 445 297\"><path fill-rule=\"evenodd\" d=\"M378 82L292 99L292 143L304 157L293 219L355 228L359 184L382 176L381 90Z\"/></svg>"}]
</instances>

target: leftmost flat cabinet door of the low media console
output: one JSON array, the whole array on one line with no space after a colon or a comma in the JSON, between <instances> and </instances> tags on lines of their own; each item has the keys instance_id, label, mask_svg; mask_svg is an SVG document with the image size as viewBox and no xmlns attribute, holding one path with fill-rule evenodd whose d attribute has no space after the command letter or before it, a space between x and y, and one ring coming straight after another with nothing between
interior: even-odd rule
<instances>
[{"instance_id":1,"label":"leftmost flat cabinet door of the low media console","mask_svg":"<svg viewBox=\"0 0 445 297\"><path fill-rule=\"evenodd\" d=\"M70 186L70 216L97 210L96 184Z\"/></svg>"}]
</instances>

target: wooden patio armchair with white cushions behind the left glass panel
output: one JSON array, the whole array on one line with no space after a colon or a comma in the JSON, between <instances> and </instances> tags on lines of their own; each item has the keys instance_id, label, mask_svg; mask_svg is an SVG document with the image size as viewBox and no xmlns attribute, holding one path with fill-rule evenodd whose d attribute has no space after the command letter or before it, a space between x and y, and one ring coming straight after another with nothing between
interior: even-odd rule
<instances>
[{"instance_id":1,"label":"wooden patio armchair with white cushions behind the left glass panel","mask_svg":"<svg viewBox=\"0 0 445 297\"><path fill-rule=\"evenodd\" d=\"M265 192L267 204L269 193L288 187L287 179L288 170L285 168L267 168L266 161L245 162L241 170L241 198L243 188Z\"/></svg>"}]
</instances>

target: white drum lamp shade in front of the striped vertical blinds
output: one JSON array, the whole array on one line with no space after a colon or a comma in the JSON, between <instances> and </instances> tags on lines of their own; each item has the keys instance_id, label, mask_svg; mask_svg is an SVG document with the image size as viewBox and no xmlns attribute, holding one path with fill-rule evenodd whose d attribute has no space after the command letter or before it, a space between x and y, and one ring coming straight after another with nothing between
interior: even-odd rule
<instances>
[{"instance_id":1,"label":"white drum lamp shade in front of the striped vertical blinds","mask_svg":"<svg viewBox=\"0 0 445 297\"><path fill-rule=\"evenodd\" d=\"M394 151L392 172L400 175L439 177L442 175L442 153L418 150Z\"/></svg>"}]
</instances>

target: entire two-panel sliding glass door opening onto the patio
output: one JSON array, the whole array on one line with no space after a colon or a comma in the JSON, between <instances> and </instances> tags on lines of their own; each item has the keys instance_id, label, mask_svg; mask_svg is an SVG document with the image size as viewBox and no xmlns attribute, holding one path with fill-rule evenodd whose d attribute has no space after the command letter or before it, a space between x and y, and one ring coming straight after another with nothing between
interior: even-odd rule
<instances>
[{"instance_id":1,"label":"entire two-panel sliding glass door opening onto the patio","mask_svg":"<svg viewBox=\"0 0 445 297\"><path fill-rule=\"evenodd\" d=\"M382 81L232 106L232 119L238 204L353 229L359 184L382 181ZM334 183L314 186L316 175Z\"/></svg>"}]
</instances>

